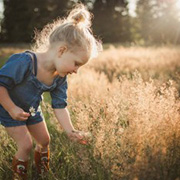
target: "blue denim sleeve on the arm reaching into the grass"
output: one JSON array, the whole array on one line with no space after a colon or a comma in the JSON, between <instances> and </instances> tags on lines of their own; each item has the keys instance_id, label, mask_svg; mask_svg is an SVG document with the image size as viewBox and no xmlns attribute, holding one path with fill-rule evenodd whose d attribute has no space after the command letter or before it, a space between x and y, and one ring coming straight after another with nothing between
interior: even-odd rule
<instances>
[{"instance_id":1,"label":"blue denim sleeve on the arm reaching into the grass","mask_svg":"<svg viewBox=\"0 0 180 180\"><path fill-rule=\"evenodd\" d=\"M67 106L67 78L63 79L63 82L56 86L53 91L50 91L52 98L52 108L63 109Z\"/></svg>"}]
</instances>

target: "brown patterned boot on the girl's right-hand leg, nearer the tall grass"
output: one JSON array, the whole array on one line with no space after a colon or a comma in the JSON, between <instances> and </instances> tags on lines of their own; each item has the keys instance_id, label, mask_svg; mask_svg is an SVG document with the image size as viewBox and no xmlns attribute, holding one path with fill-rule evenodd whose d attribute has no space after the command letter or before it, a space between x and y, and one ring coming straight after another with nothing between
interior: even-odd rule
<instances>
[{"instance_id":1,"label":"brown patterned boot on the girl's right-hand leg, nearer the tall grass","mask_svg":"<svg viewBox=\"0 0 180 180\"><path fill-rule=\"evenodd\" d=\"M49 170L49 156L50 150L46 152L34 151L34 161L37 168L38 175L44 175Z\"/></svg>"}]
</instances>

